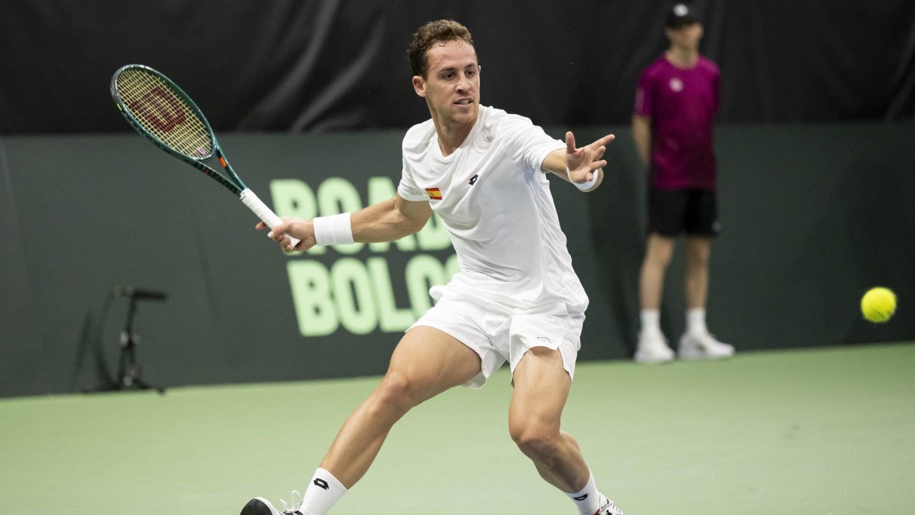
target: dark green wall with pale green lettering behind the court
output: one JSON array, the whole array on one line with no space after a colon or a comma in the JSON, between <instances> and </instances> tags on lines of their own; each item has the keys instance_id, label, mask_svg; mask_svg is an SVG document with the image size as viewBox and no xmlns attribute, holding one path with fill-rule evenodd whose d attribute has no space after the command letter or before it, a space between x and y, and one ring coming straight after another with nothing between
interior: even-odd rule
<instances>
[{"instance_id":1,"label":"dark green wall with pale green lettering behind the court","mask_svg":"<svg viewBox=\"0 0 915 515\"><path fill-rule=\"evenodd\" d=\"M645 178L628 130L612 130L618 139L602 188L583 195L554 183L569 250L592 301L581 359L628 356L638 330ZM582 142L600 132L576 137ZM288 213L303 203L277 203L272 180L298 179L317 192L328 177L342 177L362 204L371 177L396 186L402 136L234 134L221 143L248 185ZM724 231L713 247L711 329L742 350L915 338L907 308L915 297L913 136L912 124L720 127ZM381 258L403 317L422 306L405 287L410 263L435 259L444 266L453 253L392 245L387 252L286 256L253 231L256 220L241 202L135 134L3 138L0 172L0 396L97 384L93 346L101 343L109 367L118 355L127 303L115 299L104 320L102 304L119 284L169 294L166 303L141 303L136 317L148 381L381 373L399 331L356 335L340 327L303 337L290 263L310 260L332 270L347 258L360 272ZM321 214L339 206L325 208ZM682 281L678 253L664 302L671 339L683 327ZM363 298L372 306L355 306L375 312L362 320L370 325L383 318L374 284L350 288L350 295L360 288L371 294ZM900 299L898 315L882 326L857 312L860 295L875 284L894 288ZM77 378L81 346L86 355Z\"/></svg>"}]
</instances>

